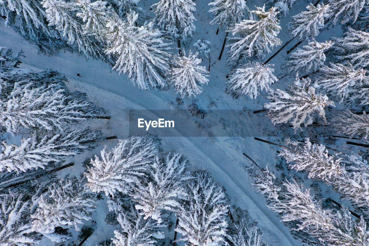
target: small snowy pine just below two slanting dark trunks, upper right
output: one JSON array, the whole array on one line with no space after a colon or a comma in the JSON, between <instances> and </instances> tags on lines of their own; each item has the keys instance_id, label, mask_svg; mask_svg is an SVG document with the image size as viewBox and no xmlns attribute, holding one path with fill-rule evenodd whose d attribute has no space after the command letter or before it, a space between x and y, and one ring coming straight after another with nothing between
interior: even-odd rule
<instances>
[{"instance_id":1,"label":"small snowy pine just below two slanting dark trunks, upper right","mask_svg":"<svg viewBox=\"0 0 369 246\"><path fill-rule=\"evenodd\" d=\"M329 49L332 45L331 41L325 41L325 43L313 41L303 46L305 50L297 49L297 51L293 52L286 59L284 65L282 65L284 73L290 74L297 71L308 73L317 71L324 64L324 50Z\"/></svg>"}]
</instances>

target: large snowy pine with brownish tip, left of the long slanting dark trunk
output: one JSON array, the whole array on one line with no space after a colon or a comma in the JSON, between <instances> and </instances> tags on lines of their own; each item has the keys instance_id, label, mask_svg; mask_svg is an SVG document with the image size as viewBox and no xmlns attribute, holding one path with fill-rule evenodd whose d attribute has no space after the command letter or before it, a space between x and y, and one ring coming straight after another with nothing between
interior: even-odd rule
<instances>
[{"instance_id":1,"label":"large snowy pine with brownish tip, left of the long slanting dark trunk","mask_svg":"<svg viewBox=\"0 0 369 246\"><path fill-rule=\"evenodd\" d=\"M280 45L282 42L277 38L281 27L279 20L276 18L278 12L276 8L270 8L265 11L263 7L257 7L251 11L259 20L243 20L235 25L232 34L239 34L241 37L230 38L231 49L228 51L228 63L237 65L238 61L247 57L261 58L264 53L270 52L270 48ZM270 47L270 48L269 48Z\"/></svg>"}]
</instances>

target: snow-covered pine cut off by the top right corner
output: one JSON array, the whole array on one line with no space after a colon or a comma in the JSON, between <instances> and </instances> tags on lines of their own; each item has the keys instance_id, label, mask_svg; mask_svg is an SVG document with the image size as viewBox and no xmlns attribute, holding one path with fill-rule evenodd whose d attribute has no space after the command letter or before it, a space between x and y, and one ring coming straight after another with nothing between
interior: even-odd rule
<instances>
[{"instance_id":1,"label":"snow-covered pine cut off by the top right corner","mask_svg":"<svg viewBox=\"0 0 369 246\"><path fill-rule=\"evenodd\" d=\"M355 23L360 11L368 0L328 0L330 12L327 16L327 28L339 24L345 24L351 21Z\"/></svg>"}]
</instances>

